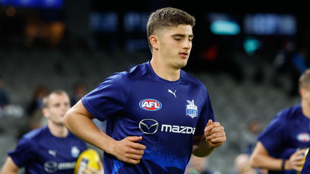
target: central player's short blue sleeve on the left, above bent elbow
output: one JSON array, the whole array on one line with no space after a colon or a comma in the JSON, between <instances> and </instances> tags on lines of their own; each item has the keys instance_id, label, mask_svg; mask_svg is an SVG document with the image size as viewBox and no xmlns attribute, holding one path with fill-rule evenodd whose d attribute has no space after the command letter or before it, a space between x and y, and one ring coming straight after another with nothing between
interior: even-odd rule
<instances>
[{"instance_id":1,"label":"central player's short blue sleeve on the left, above bent elbow","mask_svg":"<svg viewBox=\"0 0 310 174\"><path fill-rule=\"evenodd\" d=\"M126 76L123 73L114 73L82 98L84 107L100 121L112 117L126 105L128 86L125 83Z\"/></svg>"}]
</instances>

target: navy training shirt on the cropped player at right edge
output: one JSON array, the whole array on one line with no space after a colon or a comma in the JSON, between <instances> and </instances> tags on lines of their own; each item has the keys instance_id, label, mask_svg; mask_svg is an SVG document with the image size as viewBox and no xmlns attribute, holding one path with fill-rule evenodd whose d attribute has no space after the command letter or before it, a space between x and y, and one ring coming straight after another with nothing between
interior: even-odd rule
<instances>
[{"instance_id":1,"label":"navy training shirt on the cropped player at right edge","mask_svg":"<svg viewBox=\"0 0 310 174\"><path fill-rule=\"evenodd\" d=\"M259 135L258 140L277 159L289 159L299 147L310 146L310 120L303 115L301 105L281 110ZM269 171L269 174L296 171Z\"/></svg>"}]
</instances>

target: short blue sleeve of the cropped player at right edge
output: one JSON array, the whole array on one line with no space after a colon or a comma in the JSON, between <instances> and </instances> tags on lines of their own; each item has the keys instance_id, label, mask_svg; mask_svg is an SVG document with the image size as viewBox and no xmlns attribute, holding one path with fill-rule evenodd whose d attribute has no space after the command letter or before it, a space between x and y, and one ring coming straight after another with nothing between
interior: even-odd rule
<instances>
[{"instance_id":1,"label":"short blue sleeve of the cropped player at right edge","mask_svg":"<svg viewBox=\"0 0 310 174\"><path fill-rule=\"evenodd\" d=\"M282 135L285 128L285 118L282 114L283 112L278 113L267 128L258 136L258 141L263 144L269 153L278 149L284 141Z\"/></svg>"}]
</instances>

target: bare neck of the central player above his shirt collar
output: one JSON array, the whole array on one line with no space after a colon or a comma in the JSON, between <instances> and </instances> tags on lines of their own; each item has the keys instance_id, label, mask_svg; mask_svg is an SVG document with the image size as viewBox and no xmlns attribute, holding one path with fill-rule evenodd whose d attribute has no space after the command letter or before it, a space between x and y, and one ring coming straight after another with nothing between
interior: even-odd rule
<instances>
[{"instance_id":1,"label":"bare neck of the central player above his shirt collar","mask_svg":"<svg viewBox=\"0 0 310 174\"><path fill-rule=\"evenodd\" d=\"M162 59L152 57L150 61L151 67L157 76L169 81L176 81L180 78L180 68L173 68Z\"/></svg>"}]
</instances>

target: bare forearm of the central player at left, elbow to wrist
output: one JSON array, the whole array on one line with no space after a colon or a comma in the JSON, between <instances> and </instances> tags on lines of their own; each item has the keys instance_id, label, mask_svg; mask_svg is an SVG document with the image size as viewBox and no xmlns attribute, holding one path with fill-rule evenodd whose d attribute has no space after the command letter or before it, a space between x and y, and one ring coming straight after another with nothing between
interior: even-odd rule
<instances>
[{"instance_id":1,"label":"bare forearm of the central player at left, elbow to wrist","mask_svg":"<svg viewBox=\"0 0 310 174\"><path fill-rule=\"evenodd\" d=\"M64 116L64 126L81 140L109 154L112 153L115 140L101 132L87 116L74 112L74 110L69 110Z\"/></svg>"}]
</instances>

